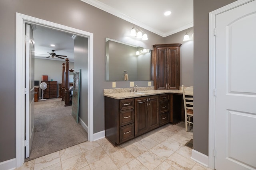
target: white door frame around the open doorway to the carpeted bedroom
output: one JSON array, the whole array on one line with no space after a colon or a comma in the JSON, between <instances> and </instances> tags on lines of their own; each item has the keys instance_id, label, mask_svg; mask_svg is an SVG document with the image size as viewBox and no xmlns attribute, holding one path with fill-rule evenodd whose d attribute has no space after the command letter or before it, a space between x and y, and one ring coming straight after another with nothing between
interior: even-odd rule
<instances>
[{"instance_id":1,"label":"white door frame around the open doorway to the carpeted bedroom","mask_svg":"<svg viewBox=\"0 0 256 170\"><path fill-rule=\"evenodd\" d=\"M52 29L74 33L88 38L88 140L93 139L93 33L60 25L32 16L16 13L16 167L22 166L25 158L25 23L42 25Z\"/></svg>"}]
</instances>

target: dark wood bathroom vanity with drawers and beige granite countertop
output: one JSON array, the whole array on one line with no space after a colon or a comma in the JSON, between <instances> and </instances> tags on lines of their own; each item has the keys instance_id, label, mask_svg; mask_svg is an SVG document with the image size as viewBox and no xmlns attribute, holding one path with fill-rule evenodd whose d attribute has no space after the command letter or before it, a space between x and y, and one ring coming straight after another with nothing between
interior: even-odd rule
<instances>
[{"instance_id":1,"label":"dark wood bathroom vanity with drawers and beige granite countertop","mask_svg":"<svg viewBox=\"0 0 256 170\"><path fill-rule=\"evenodd\" d=\"M105 137L114 146L184 119L181 90L111 90L104 91Z\"/></svg>"}]
</instances>

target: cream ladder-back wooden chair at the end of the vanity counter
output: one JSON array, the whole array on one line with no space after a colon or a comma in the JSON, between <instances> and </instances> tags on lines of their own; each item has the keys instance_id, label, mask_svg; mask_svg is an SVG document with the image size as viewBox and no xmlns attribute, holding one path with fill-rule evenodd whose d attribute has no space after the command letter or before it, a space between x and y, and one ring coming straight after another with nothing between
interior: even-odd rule
<instances>
[{"instance_id":1,"label":"cream ladder-back wooden chair at the end of the vanity counter","mask_svg":"<svg viewBox=\"0 0 256 170\"><path fill-rule=\"evenodd\" d=\"M193 119L193 106L194 106L194 98L193 98L193 87L187 87L184 89L184 85L182 85L182 94L183 94L183 101L184 101L184 110L185 110L185 126L186 132L188 131L188 124L193 124L191 121L191 117Z\"/></svg>"}]
</instances>

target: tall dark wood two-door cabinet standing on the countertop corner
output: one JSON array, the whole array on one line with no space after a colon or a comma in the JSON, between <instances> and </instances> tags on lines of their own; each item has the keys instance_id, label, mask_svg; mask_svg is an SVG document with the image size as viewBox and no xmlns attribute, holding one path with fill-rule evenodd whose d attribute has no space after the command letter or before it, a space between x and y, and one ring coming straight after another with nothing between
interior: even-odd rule
<instances>
[{"instance_id":1,"label":"tall dark wood two-door cabinet standing on the countertop corner","mask_svg":"<svg viewBox=\"0 0 256 170\"><path fill-rule=\"evenodd\" d=\"M155 90L179 90L181 44L160 44L154 47Z\"/></svg>"}]
</instances>

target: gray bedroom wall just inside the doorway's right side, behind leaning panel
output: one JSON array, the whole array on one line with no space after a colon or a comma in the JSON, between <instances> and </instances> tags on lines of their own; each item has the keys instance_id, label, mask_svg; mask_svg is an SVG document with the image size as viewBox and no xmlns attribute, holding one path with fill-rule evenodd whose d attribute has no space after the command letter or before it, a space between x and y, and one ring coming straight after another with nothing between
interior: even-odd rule
<instances>
[{"instance_id":1,"label":"gray bedroom wall just inside the doorway's right side, behind leaning panel","mask_svg":"<svg viewBox=\"0 0 256 170\"><path fill-rule=\"evenodd\" d=\"M74 40L75 71L81 69L79 117L88 126L88 38Z\"/></svg>"}]
</instances>

